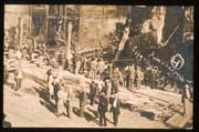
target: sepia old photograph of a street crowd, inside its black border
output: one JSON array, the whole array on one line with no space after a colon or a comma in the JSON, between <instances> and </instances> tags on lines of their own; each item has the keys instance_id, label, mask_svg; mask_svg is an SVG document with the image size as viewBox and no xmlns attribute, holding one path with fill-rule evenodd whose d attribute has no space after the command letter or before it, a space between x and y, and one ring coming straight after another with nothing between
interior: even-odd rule
<instances>
[{"instance_id":1,"label":"sepia old photograph of a street crowd, inside its black border","mask_svg":"<svg viewBox=\"0 0 199 132\"><path fill-rule=\"evenodd\" d=\"M3 128L192 129L193 11L4 4Z\"/></svg>"}]
</instances>

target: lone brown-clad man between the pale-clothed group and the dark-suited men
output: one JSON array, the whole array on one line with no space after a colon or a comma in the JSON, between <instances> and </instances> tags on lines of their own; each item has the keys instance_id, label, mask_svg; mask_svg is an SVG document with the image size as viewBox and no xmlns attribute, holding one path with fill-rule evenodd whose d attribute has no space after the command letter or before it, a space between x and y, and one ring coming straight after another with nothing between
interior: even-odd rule
<instances>
[{"instance_id":1,"label":"lone brown-clad man between the pale-clothed group and the dark-suited men","mask_svg":"<svg viewBox=\"0 0 199 132\"><path fill-rule=\"evenodd\" d=\"M86 105L86 92L83 88L84 85L81 87L81 91L80 91L80 116L84 116L84 111L85 111L85 105Z\"/></svg>"}]
</instances>

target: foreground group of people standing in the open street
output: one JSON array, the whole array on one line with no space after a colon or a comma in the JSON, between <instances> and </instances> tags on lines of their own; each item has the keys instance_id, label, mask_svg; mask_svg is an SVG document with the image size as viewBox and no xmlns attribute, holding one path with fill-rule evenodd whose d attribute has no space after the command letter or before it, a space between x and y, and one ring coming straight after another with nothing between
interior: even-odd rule
<instances>
[{"instance_id":1,"label":"foreground group of people standing in the open street","mask_svg":"<svg viewBox=\"0 0 199 132\"><path fill-rule=\"evenodd\" d=\"M105 79L103 81L96 81L92 79L90 83L90 91L86 92L85 82L81 83L81 89L78 93L74 94L74 89L67 84L65 80L59 77L57 73L51 68L48 71L48 90L49 90L49 101L56 108L56 115L67 115L71 118L73 115L73 101L74 98L80 99L80 116L85 116L86 105L97 105L97 112L100 115L100 125L107 125L106 123L106 112L113 112L113 123L116 126L118 122L121 100L117 95L118 93L118 80L114 81ZM108 108L108 105L111 105Z\"/></svg>"}]
</instances>

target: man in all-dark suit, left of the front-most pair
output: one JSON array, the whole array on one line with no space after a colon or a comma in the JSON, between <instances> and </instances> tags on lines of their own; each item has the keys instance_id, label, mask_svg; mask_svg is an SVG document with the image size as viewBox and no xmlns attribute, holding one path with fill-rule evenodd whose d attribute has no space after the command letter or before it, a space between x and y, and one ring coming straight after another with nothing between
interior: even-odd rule
<instances>
[{"instance_id":1,"label":"man in all-dark suit, left of the front-most pair","mask_svg":"<svg viewBox=\"0 0 199 132\"><path fill-rule=\"evenodd\" d=\"M100 97L100 103L98 103L98 114L100 114L100 125L106 126L106 112L107 112L108 101L107 98L105 98L105 94L102 93ZM103 123L104 122L104 123Z\"/></svg>"}]
</instances>

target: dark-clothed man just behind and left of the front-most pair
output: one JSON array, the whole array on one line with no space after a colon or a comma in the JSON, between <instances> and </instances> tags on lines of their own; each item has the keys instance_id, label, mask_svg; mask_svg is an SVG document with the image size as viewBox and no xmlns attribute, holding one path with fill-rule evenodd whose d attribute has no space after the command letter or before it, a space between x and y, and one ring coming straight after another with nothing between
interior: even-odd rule
<instances>
[{"instance_id":1,"label":"dark-clothed man just behind and left of the front-most pair","mask_svg":"<svg viewBox=\"0 0 199 132\"><path fill-rule=\"evenodd\" d=\"M97 87L96 87L95 82L92 81L92 83L90 84L90 101L91 101L91 105L93 105L94 102L95 102L96 92L97 92Z\"/></svg>"}]
</instances>

